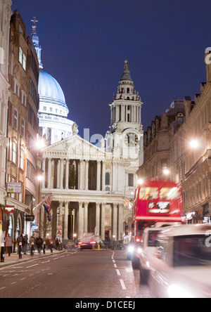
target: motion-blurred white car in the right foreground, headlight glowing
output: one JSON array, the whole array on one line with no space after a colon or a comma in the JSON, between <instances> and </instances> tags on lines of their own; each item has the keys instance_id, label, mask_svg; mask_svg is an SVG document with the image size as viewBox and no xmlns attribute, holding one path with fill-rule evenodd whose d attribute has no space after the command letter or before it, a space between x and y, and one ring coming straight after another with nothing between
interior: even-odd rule
<instances>
[{"instance_id":1,"label":"motion-blurred white car in the right foreground, headlight glowing","mask_svg":"<svg viewBox=\"0 0 211 312\"><path fill-rule=\"evenodd\" d=\"M161 230L149 261L149 287L156 298L211 297L211 226L173 226Z\"/></svg>"}]
</instances>

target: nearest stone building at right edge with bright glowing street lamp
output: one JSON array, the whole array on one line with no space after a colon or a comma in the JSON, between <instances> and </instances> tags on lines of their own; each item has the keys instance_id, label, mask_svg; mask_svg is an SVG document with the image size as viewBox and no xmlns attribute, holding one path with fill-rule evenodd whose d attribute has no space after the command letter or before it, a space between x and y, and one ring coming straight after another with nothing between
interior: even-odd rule
<instances>
[{"instance_id":1,"label":"nearest stone building at right edge with bright glowing street lamp","mask_svg":"<svg viewBox=\"0 0 211 312\"><path fill-rule=\"evenodd\" d=\"M211 64L206 71L200 94L184 98L186 121L170 143L172 178L181 181L189 223L207 222L211 216Z\"/></svg>"}]
</instances>

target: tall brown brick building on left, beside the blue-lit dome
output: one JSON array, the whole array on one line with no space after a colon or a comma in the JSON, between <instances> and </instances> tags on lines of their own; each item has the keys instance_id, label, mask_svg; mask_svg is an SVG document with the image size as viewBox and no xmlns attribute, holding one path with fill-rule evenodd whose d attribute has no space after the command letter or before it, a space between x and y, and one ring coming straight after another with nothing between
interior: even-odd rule
<instances>
[{"instance_id":1,"label":"tall brown brick building on left, beside the blue-lit dome","mask_svg":"<svg viewBox=\"0 0 211 312\"><path fill-rule=\"evenodd\" d=\"M36 145L39 105L37 53L17 10L11 17L8 68L11 94L8 102L6 183L20 183L21 189L17 193L10 190L6 196L5 204L14 207L14 212L4 214L4 231L16 239L22 233L30 235L25 215L32 214L32 208L39 200L37 172L39 162L41 164Z\"/></svg>"}]
</instances>

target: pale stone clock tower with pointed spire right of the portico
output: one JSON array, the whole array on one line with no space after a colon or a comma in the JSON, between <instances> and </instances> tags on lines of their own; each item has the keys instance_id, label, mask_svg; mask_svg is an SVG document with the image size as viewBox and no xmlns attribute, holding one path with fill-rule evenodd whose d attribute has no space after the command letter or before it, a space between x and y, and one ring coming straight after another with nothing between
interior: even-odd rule
<instances>
[{"instance_id":1,"label":"pale stone clock tower with pointed spire right of the portico","mask_svg":"<svg viewBox=\"0 0 211 312\"><path fill-rule=\"evenodd\" d=\"M106 134L106 151L122 160L143 160L143 126L141 124L141 98L134 89L128 61L113 103L110 104L110 131Z\"/></svg>"}]
</instances>

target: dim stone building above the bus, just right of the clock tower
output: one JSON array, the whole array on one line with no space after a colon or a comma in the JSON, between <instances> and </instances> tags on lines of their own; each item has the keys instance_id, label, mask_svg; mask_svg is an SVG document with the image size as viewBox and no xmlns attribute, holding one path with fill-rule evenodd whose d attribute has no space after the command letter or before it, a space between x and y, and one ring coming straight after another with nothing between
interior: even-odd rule
<instances>
[{"instance_id":1,"label":"dim stone building above the bus, just right of the clock tower","mask_svg":"<svg viewBox=\"0 0 211 312\"><path fill-rule=\"evenodd\" d=\"M161 116L155 116L143 134L143 166L139 178L163 180L171 178L170 141L185 120L184 100L173 100Z\"/></svg>"}]
</instances>

